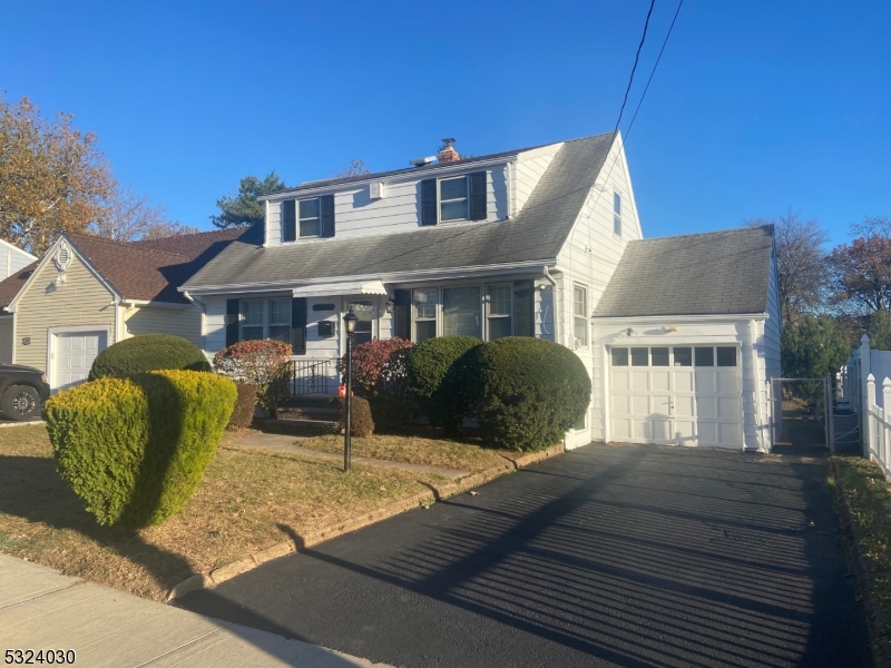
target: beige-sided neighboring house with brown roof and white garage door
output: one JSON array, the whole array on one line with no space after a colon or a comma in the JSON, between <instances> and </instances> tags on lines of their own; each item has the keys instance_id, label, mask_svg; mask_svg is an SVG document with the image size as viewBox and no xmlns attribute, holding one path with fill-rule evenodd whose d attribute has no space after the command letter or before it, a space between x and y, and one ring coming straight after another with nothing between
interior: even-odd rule
<instances>
[{"instance_id":1,"label":"beige-sided neighboring house with brown roof and white garage door","mask_svg":"<svg viewBox=\"0 0 891 668\"><path fill-rule=\"evenodd\" d=\"M12 361L47 373L53 391L86 380L104 348L137 334L202 344L200 306L177 287L244 229L121 243L63 234L40 262L0 282Z\"/></svg>"}]
</instances>

